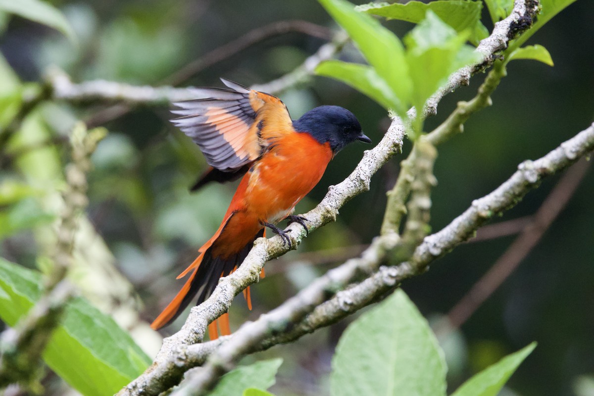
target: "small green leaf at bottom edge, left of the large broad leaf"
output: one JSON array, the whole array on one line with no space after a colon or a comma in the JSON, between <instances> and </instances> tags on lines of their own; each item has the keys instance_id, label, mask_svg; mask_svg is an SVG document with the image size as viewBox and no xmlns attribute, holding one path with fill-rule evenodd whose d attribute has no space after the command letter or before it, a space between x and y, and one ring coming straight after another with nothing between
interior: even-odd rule
<instances>
[{"instance_id":1,"label":"small green leaf at bottom edge, left of the large broad leaf","mask_svg":"<svg viewBox=\"0 0 594 396\"><path fill-rule=\"evenodd\" d=\"M270 359L241 366L226 373L208 396L242 396L247 388L270 388L283 359Z\"/></svg>"}]
</instances>

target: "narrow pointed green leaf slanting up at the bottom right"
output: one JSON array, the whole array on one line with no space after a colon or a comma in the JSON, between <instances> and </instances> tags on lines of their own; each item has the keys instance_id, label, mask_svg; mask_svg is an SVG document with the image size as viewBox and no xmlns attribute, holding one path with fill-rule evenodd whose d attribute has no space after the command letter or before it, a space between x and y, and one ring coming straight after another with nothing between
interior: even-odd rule
<instances>
[{"instance_id":1,"label":"narrow pointed green leaf slanting up at the bottom right","mask_svg":"<svg viewBox=\"0 0 594 396\"><path fill-rule=\"evenodd\" d=\"M474 375L451 396L496 396L508 378L535 347L536 343L532 343L515 353L505 356L499 362Z\"/></svg>"}]
</instances>

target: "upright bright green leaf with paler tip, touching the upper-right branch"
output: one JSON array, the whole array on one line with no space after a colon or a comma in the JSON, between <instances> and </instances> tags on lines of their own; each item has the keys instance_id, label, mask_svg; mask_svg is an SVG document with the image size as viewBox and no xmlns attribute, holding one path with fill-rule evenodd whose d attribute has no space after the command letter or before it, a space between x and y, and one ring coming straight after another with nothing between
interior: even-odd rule
<instances>
[{"instance_id":1,"label":"upright bright green leaf with paler tip, touching the upper-right branch","mask_svg":"<svg viewBox=\"0 0 594 396\"><path fill-rule=\"evenodd\" d=\"M457 69L478 61L478 54L465 45L466 37L443 23L431 10L405 37L406 61L415 87L412 104L422 109L425 102ZM419 129L420 122L415 129Z\"/></svg>"}]
</instances>

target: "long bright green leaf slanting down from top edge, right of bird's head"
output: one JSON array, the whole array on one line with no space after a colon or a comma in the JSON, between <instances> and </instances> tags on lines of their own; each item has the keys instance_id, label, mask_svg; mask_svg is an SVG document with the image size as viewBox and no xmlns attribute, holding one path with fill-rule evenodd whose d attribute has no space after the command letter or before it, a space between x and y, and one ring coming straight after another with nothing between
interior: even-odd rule
<instances>
[{"instance_id":1,"label":"long bright green leaf slanting down from top edge, right of bird's head","mask_svg":"<svg viewBox=\"0 0 594 396\"><path fill-rule=\"evenodd\" d=\"M355 11L345 0L318 0L328 14L342 26L359 47L365 59L399 99L394 111L405 117L410 102L412 84L402 43L387 28L370 15Z\"/></svg>"}]
</instances>

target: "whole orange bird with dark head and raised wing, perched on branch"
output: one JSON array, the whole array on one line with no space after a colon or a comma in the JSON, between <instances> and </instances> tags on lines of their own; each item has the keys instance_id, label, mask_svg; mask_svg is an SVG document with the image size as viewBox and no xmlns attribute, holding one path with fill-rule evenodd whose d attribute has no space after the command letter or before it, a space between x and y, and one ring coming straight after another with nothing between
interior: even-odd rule
<instances>
[{"instance_id":1,"label":"whole orange bird with dark head and raised wing, perched on branch","mask_svg":"<svg viewBox=\"0 0 594 396\"><path fill-rule=\"evenodd\" d=\"M304 218L293 216L295 205L320 181L328 162L350 142L371 142L342 107L315 107L293 121L279 98L221 80L228 89L195 88L200 99L174 103L180 117L172 122L200 146L210 165L194 189L242 179L219 229L178 276L190 274L151 324L155 330L170 324L196 295L197 304L203 302L220 277L241 265L265 227L290 245L275 224L288 219L305 227ZM244 295L251 309L249 288ZM221 332L229 334L228 317L222 319ZM208 328L211 338L217 337L216 326Z\"/></svg>"}]
</instances>

